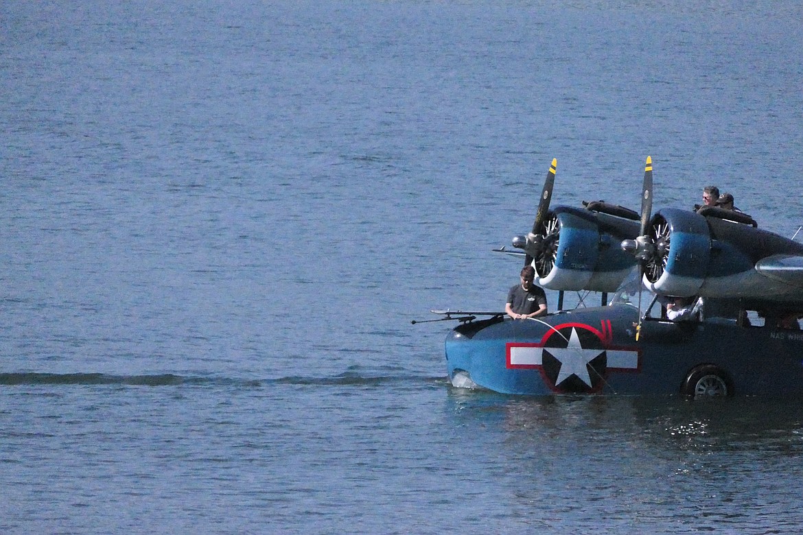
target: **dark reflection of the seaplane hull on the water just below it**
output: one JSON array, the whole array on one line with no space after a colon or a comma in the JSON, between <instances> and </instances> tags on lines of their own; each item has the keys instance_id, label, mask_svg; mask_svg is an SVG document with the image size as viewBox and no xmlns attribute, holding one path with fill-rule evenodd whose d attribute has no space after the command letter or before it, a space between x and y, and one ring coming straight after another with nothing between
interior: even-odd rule
<instances>
[{"instance_id":1,"label":"dark reflection of the seaplane hull on the water just below it","mask_svg":"<svg viewBox=\"0 0 803 535\"><path fill-rule=\"evenodd\" d=\"M526 440L615 434L638 448L797 453L803 448L803 408L789 400L639 396L511 397L452 388L459 418L483 415L483 424Z\"/></svg>"}]
</instances>

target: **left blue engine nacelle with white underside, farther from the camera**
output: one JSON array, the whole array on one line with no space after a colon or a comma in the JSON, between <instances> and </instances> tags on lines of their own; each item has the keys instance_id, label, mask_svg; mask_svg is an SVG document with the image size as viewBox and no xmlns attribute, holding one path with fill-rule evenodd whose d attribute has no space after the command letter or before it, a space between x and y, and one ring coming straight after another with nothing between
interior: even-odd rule
<instances>
[{"instance_id":1,"label":"left blue engine nacelle with white underside, farther from the camera","mask_svg":"<svg viewBox=\"0 0 803 535\"><path fill-rule=\"evenodd\" d=\"M559 206L546 222L536 282L548 290L613 292L635 264L619 244L638 236L638 221Z\"/></svg>"}]
</instances>

